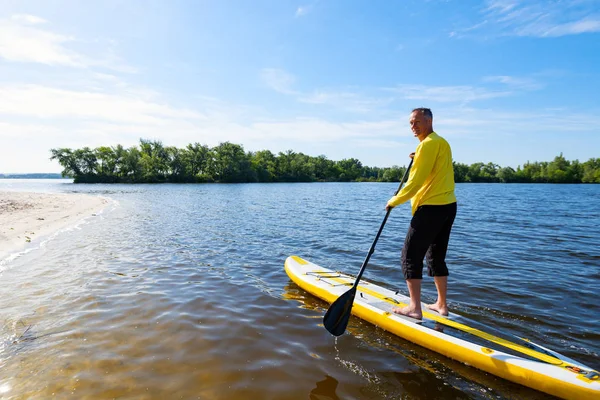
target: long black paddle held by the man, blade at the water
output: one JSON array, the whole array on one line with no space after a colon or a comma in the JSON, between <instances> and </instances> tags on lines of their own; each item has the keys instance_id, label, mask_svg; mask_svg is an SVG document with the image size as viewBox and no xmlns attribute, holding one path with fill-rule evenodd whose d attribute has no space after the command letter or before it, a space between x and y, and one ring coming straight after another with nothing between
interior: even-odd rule
<instances>
[{"instance_id":1,"label":"long black paddle held by the man, blade at the water","mask_svg":"<svg viewBox=\"0 0 600 400\"><path fill-rule=\"evenodd\" d=\"M400 181L400 186L398 186L398 190L396 190L396 193L394 195L398 194L400 189L402 189L402 185L404 184L404 181L406 180L406 177L408 176L408 171L410 171L412 162L413 162L413 160L410 160L410 164L408 164L408 168L406 169L406 172L404 172L404 176L402 177L402 180ZM363 272L365 272L365 268L367 267L367 264L369 263L371 254L373 254L373 252L375 251L375 245L377 244L377 240L379 240L381 231L383 231L383 227L387 221L387 218L390 215L390 211L392 211L391 208L389 210L387 210L387 212L385 213L383 222L381 223L381 226L379 227L379 232L377 232L377 236L375 236L375 240L373 241L373 244L371 245L371 248L369 249L369 254L367 254L367 257L365 258L365 261L363 262L363 265L360 268L360 272L356 276L356 281L354 281L354 285L352 286L352 288L350 290L348 290L346 293L344 293L343 295L338 297L337 300L331 304L331 306L329 307L329 310L327 310L327 312L325 313L325 316L323 317L323 325L325 325L325 329L327 329L332 335L335 335L335 336L342 335L344 333L344 331L346 330L346 326L348 326L348 320L350 319L350 314L352 311L352 304L354 303L354 296L356 296L356 289L358 288L358 281L360 281L360 278L362 277Z\"/></svg>"}]
</instances>

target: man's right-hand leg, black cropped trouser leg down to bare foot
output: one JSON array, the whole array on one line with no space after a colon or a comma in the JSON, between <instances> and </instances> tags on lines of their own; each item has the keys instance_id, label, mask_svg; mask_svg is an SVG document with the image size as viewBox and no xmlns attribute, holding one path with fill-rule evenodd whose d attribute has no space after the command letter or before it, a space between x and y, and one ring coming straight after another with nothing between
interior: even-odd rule
<instances>
[{"instance_id":1,"label":"man's right-hand leg, black cropped trouser leg down to bare foot","mask_svg":"<svg viewBox=\"0 0 600 400\"><path fill-rule=\"evenodd\" d=\"M446 300L448 294L448 267L446 265L446 252L448 251L448 241L450 240L450 231L456 217L456 203L445 206L447 208L447 218L440 233L436 236L429 249L427 249L427 269L429 275L433 276L438 298L433 304L427 305L427 308L437 311L441 315L448 315L448 303Z\"/></svg>"}]
</instances>

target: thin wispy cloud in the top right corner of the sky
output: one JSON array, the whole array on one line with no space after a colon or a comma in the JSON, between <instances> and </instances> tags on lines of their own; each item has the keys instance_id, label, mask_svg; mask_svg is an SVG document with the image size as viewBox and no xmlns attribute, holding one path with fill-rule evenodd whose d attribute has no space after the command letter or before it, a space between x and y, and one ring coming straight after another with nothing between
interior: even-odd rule
<instances>
[{"instance_id":1,"label":"thin wispy cloud in the top right corner of the sky","mask_svg":"<svg viewBox=\"0 0 600 400\"><path fill-rule=\"evenodd\" d=\"M450 37L470 34L558 37L600 32L596 0L488 0L482 21L457 29Z\"/></svg>"}]
</instances>

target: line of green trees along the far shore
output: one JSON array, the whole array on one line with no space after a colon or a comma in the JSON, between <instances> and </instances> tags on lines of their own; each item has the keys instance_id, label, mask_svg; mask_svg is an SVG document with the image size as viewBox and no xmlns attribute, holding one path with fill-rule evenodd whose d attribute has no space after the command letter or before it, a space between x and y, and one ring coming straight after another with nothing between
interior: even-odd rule
<instances>
[{"instance_id":1,"label":"line of green trees along the far shore","mask_svg":"<svg viewBox=\"0 0 600 400\"><path fill-rule=\"evenodd\" d=\"M51 160L75 183L245 183L245 182L397 182L405 168L363 166L355 159L332 161L288 150L246 152L234 143L185 148L140 140L139 146L52 149ZM527 162L513 169L494 163L454 163L456 182L600 183L600 158Z\"/></svg>"}]
</instances>

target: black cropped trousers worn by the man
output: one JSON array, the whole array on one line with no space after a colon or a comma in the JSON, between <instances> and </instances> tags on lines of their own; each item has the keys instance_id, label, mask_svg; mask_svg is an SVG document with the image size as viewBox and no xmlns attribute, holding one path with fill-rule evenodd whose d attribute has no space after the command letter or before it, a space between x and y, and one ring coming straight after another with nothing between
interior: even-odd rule
<instances>
[{"instance_id":1,"label":"black cropped trousers worn by the man","mask_svg":"<svg viewBox=\"0 0 600 400\"><path fill-rule=\"evenodd\" d=\"M446 251L455 217L456 203L417 208L402 248L405 279L423 278L425 257L429 276L448 276Z\"/></svg>"}]
</instances>

